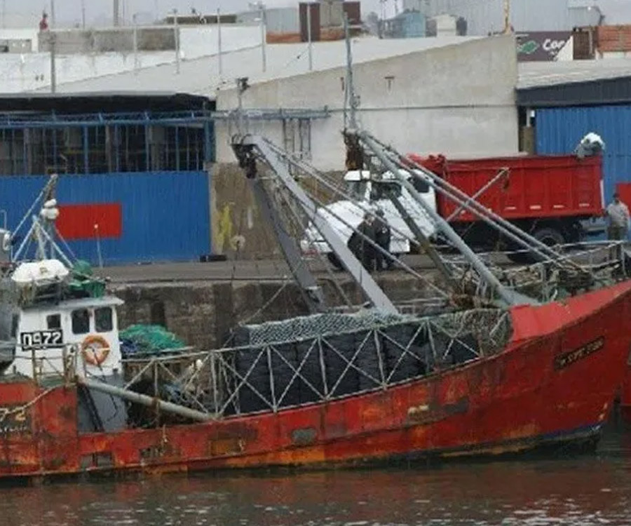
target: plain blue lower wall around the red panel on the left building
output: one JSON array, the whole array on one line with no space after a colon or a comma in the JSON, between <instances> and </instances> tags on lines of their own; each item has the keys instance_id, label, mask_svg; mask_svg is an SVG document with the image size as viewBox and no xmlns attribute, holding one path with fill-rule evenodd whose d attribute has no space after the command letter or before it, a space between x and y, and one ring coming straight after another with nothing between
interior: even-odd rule
<instances>
[{"instance_id":1,"label":"plain blue lower wall around the red panel on the left building","mask_svg":"<svg viewBox=\"0 0 631 526\"><path fill-rule=\"evenodd\" d=\"M18 226L47 180L39 175L0 177L0 210L6 210L9 229ZM210 253L205 172L61 175L57 201L61 206L120 203L121 237L100 239L106 265L195 260ZM97 264L95 239L68 244L76 257Z\"/></svg>"}]
</instances>

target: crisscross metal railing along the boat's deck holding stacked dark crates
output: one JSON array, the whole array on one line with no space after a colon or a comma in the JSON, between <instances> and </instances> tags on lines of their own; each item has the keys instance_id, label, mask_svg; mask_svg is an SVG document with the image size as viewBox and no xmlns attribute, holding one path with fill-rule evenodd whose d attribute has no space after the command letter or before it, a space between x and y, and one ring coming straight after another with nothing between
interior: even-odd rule
<instances>
[{"instance_id":1,"label":"crisscross metal railing along the boat's deck holding stacked dark crates","mask_svg":"<svg viewBox=\"0 0 631 526\"><path fill-rule=\"evenodd\" d=\"M154 385L154 396L168 395L171 403L217 419L278 412L459 367L503 349L512 332L510 314L501 309L410 316L348 332L317 328L304 337L296 337L304 328L280 325L268 341L253 335L250 345L179 356L189 364L179 375L170 367L172 356L145 358L125 389L144 379ZM269 336L269 329L262 332Z\"/></svg>"}]
</instances>

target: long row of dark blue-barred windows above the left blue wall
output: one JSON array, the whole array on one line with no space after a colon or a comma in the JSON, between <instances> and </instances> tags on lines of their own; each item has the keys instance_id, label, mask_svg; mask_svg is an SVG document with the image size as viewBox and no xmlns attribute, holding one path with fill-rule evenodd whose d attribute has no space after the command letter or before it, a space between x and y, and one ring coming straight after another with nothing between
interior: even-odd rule
<instances>
[{"instance_id":1,"label":"long row of dark blue-barred windows above the left blue wall","mask_svg":"<svg viewBox=\"0 0 631 526\"><path fill-rule=\"evenodd\" d=\"M214 139L205 117L182 114L34 114L13 123L0 112L0 175L201 171ZM95 119L98 119L96 121ZM129 119L129 121L127 121ZM69 120L76 123L60 126ZM50 126L46 123L50 121ZM8 128L8 123L15 128Z\"/></svg>"}]
</instances>

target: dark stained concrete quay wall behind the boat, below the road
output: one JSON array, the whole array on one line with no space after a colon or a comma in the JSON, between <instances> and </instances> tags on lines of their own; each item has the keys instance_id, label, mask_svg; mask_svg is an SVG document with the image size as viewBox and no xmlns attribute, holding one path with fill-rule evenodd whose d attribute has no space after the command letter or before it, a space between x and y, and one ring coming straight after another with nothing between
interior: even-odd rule
<instances>
[{"instance_id":1,"label":"dark stained concrete quay wall behind the boat, below the road","mask_svg":"<svg viewBox=\"0 0 631 526\"><path fill-rule=\"evenodd\" d=\"M427 277L435 281L435 273ZM427 283L393 271L377 278L394 302L433 296ZM350 278L340 287L353 304L362 303L359 288ZM327 303L344 304L332 280L322 280ZM114 292L125 301L118 310L118 325L164 325L198 349L222 346L239 323L262 323L308 313L297 285L287 281L209 281L203 283L121 284Z\"/></svg>"}]
</instances>

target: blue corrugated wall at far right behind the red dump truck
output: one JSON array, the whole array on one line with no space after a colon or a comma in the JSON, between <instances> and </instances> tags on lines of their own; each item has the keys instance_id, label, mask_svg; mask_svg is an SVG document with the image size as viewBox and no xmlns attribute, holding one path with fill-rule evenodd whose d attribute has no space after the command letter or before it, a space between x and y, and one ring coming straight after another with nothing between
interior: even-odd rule
<instances>
[{"instance_id":1,"label":"blue corrugated wall at far right behind the red dump truck","mask_svg":"<svg viewBox=\"0 0 631 526\"><path fill-rule=\"evenodd\" d=\"M538 154L568 154L586 133L605 142L604 192L607 202L618 182L631 182L631 106L595 106L538 109Z\"/></svg>"}]
</instances>

